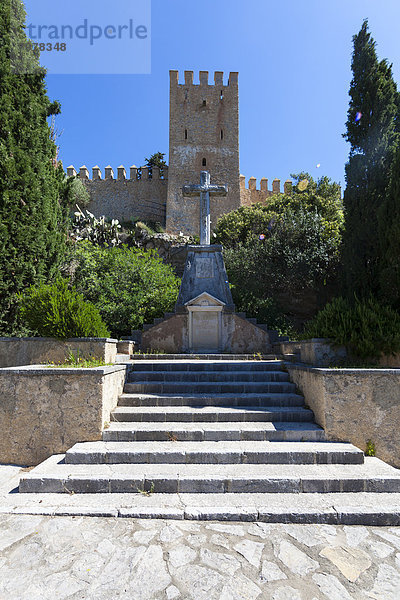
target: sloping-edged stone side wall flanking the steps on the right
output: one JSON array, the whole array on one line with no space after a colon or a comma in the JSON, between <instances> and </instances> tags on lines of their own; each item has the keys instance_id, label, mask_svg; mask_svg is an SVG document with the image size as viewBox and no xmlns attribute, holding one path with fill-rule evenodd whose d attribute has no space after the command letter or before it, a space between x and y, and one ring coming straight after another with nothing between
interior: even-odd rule
<instances>
[{"instance_id":1,"label":"sloping-edged stone side wall flanking the steps on the right","mask_svg":"<svg viewBox=\"0 0 400 600\"><path fill-rule=\"evenodd\" d=\"M286 366L328 440L361 450L371 440L378 458L400 468L400 370Z\"/></svg>"}]
</instances>

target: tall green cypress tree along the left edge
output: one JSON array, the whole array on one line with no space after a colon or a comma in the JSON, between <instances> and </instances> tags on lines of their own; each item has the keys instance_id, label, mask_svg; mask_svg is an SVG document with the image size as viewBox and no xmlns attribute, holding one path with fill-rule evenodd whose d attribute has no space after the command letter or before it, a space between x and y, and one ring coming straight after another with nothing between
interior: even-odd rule
<instances>
[{"instance_id":1,"label":"tall green cypress tree along the left edge","mask_svg":"<svg viewBox=\"0 0 400 600\"><path fill-rule=\"evenodd\" d=\"M59 105L24 24L20 0L0 4L0 335L25 332L17 294L53 279L66 239L69 188L47 122Z\"/></svg>"}]
</instances>

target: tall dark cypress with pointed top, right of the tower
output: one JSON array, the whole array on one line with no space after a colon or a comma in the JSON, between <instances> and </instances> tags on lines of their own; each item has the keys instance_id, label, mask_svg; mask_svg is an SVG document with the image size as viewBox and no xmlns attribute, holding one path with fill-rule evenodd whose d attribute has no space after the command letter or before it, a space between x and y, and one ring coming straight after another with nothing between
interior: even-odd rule
<instances>
[{"instance_id":1,"label":"tall dark cypress with pointed top, right of the tower","mask_svg":"<svg viewBox=\"0 0 400 600\"><path fill-rule=\"evenodd\" d=\"M386 60L364 21L353 37L353 78L345 139L350 142L344 193L344 291L353 298L379 294L378 212L385 200L398 139L399 95Z\"/></svg>"}]
</instances>

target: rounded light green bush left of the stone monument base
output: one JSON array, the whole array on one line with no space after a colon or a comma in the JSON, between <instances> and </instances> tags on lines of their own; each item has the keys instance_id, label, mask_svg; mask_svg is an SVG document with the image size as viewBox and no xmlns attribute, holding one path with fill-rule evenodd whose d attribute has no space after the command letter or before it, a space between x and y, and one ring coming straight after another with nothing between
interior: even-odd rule
<instances>
[{"instance_id":1,"label":"rounded light green bush left of the stone monument base","mask_svg":"<svg viewBox=\"0 0 400 600\"><path fill-rule=\"evenodd\" d=\"M129 335L171 310L180 279L154 250L75 244L73 283L93 302L113 335Z\"/></svg>"}]
</instances>

